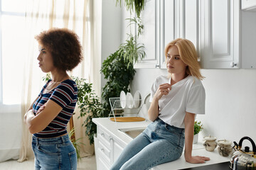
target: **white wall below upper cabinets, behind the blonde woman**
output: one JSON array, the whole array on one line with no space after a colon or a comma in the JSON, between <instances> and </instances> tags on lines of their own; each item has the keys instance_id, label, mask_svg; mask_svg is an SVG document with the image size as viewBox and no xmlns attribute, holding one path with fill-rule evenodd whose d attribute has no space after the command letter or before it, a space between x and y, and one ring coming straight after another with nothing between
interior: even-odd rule
<instances>
[{"instance_id":1,"label":"white wall below upper cabinets, behind the blonde woman","mask_svg":"<svg viewBox=\"0 0 256 170\"><path fill-rule=\"evenodd\" d=\"M142 96L150 92L151 84L166 69L137 69L132 81L132 94L141 91ZM212 135L218 140L239 142L247 135L255 140L256 122L256 69L202 69L206 79L206 115L202 120L203 136ZM248 145L250 147L250 145Z\"/></svg>"}]
</instances>

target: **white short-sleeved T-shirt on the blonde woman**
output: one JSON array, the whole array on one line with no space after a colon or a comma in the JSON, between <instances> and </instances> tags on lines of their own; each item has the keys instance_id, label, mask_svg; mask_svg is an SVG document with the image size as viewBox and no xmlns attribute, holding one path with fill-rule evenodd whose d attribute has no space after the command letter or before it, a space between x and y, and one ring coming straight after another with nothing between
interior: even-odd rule
<instances>
[{"instance_id":1,"label":"white short-sleeved T-shirt on the blonde woman","mask_svg":"<svg viewBox=\"0 0 256 170\"><path fill-rule=\"evenodd\" d=\"M160 76L151 87L151 102L159 85L171 83L171 78ZM185 128L186 112L195 114L205 113L206 92L201 80L188 76L171 86L169 94L159 100L159 118L169 125Z\"/></svg>"}]
</instances>

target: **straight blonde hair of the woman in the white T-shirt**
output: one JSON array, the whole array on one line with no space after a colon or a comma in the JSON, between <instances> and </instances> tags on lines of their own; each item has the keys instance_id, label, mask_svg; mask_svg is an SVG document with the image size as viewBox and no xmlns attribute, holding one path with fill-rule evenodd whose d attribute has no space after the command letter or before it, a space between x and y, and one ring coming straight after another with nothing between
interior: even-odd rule
<instances>
[{"instance_id":1,"label":"straight blonde hair of the woman in the white T-shirt","mask_svg":"<svg viewBox=\"0 0 256 170\"><path fill-rule=\"evenodd\" d=\"M181 60L187 65L186 74L202 80L204 77L201 75L200 72L201 68L198 63L198 55L196 53L196 48L193 45L193 42L183 38L177 38L176 40L169 42L164 50L164 54L166 57L169 48L174 45L178 48Z\"/></svg>"}]
</instances>

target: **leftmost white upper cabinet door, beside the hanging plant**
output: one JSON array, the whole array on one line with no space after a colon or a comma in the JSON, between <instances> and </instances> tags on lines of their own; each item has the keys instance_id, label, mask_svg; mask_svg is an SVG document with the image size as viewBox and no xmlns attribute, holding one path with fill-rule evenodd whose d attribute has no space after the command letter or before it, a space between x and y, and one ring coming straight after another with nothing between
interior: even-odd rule
<instances>
[{"instance_id":1,"label":"leftmost white upper cabinet door, beside the hanging plant","mask_svg":"<svg viewBox=\"0 0 256 170\"><path fill-rule=\"evenodd\" d=\"M134 68L159 67L159 1L146 1L141 13L144 29L137 42L144 44L146 57L134 65Z\"/></svg>"}]
</instances>

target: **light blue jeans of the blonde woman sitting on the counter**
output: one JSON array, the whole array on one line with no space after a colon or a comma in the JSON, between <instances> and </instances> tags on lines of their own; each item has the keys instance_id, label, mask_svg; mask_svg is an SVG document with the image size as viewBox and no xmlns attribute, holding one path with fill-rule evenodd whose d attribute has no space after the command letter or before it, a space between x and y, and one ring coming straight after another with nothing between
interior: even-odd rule
<instances>
[{"instance_id":1,"label":"light blue jeans of the blonde woman sitting on the counter","mask_svg":"<svg viewBox=\"0 0 256 170\"><path fill-rule=\"evenodd\" d=\"M184 129L157 118L124 148L110 169L144 170L174 161L181 157L184 138Z\"/></svg>"}]
</instances>

